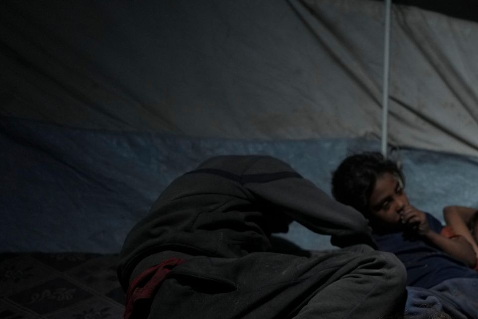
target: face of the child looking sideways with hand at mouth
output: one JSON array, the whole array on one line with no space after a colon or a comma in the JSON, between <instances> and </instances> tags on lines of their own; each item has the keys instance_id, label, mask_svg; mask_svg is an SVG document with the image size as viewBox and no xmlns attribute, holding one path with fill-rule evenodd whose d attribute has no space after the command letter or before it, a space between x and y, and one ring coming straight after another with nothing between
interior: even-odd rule
<instances>
[{"instance_id":1,"label":"face of the child looking sideways with hand at mouth","mask_svg":"<svg viewBox=\"0 0 478 319\"><path fill-rule=\"evenodd\" d=\"M409 205L400 178L384 173L377 178L370 196L370 217L384 227L401 228L401 213Z\"/></svg>"}]
</instances>

